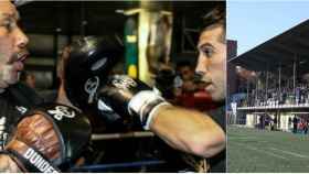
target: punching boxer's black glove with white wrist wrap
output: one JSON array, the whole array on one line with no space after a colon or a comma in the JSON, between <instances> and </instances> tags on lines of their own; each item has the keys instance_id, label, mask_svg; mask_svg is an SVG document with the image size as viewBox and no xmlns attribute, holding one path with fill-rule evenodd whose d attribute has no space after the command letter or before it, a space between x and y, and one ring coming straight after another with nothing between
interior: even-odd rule
<instances>
[{"instance_id":1,"label":"punching boxer's black glove with white wrist wrap","mask_svg":"<svg viewBox=\"0 0 309 174\"><path fill-rule=\"evenodd\" d=\"M145 130L149 130L156 110L170 105L149 86L126 75L109 77L97 96L99 110L113 110L121 117L139 117Z\"/></svg>"}]
</instances>

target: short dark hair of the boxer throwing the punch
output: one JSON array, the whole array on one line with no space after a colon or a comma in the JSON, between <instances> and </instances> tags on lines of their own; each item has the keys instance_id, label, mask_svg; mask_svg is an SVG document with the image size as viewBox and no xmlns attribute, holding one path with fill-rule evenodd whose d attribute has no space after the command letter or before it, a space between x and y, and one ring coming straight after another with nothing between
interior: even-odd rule
<instances>
[{"instance_id":1,"label":"short dark hair of the boxer throwing the punch","mask_svg":"<svg viewBox=\"0 0 309 174\"><path fill-rule=\"evenodd\" d=\"M201 32L206 30L212 30L219 26L222 26L223 29L223 33L220 37L220 41L225 43L225 32L226 32L225 6L217 6L203 17L203 28Z\"/></svg>"}]
</instances>

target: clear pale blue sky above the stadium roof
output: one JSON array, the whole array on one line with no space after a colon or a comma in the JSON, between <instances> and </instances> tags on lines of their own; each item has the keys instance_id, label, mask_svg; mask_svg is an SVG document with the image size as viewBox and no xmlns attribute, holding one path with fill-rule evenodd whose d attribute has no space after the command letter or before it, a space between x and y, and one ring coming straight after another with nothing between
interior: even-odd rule
<instances>
[{"instance_id":1,"label":"clear pale blue sky above the stadium roof","mask_svg":"<svg viewBox=\"0 0 309 174\"><path fill-rule=\"evenodd\" d=\"M237 55L309 19L309 0L227 0L226 8L227 40L237 41Z\"/></svg>"}]
</instances>

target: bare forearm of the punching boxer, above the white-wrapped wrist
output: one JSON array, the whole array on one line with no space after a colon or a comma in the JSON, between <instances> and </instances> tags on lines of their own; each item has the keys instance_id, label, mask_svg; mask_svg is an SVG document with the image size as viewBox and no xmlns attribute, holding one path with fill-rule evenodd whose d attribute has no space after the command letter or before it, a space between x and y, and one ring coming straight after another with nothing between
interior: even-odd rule
<instances>
[{"instance_id":1,"label":"bare forearm of the punching boxer, above the white-wrapped wrist","mask_svg":"<svg viewBox=\"0 0 309 174\"><path fill-rule=\"evenodd\" d=\"M204 113L162 106L154 115L150 130L174 149L211 157L225 148L224 131Z\"/></svg>"}]
</instances>

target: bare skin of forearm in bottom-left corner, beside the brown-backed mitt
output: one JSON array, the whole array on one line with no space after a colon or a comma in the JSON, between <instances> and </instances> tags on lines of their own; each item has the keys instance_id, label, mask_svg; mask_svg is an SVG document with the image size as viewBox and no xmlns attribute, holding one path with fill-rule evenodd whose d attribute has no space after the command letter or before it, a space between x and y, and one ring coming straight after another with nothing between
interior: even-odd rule
<instances>
[{"instance_id":1,"label":"bare skin of forearm in bottom-left corner, beside the brown-backed mitt","mask_svg":"<svg viewBox=\"0 0 309 174\"><path fill-rule=\"evenodd\" d=\"M17 163L7 154L0 154L0 173L20 173L22 172Z\"/></svg>"}]
</instances>

